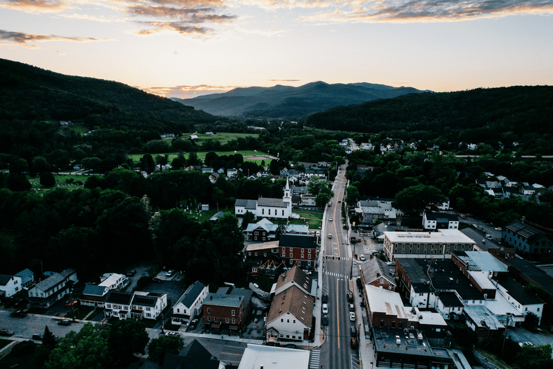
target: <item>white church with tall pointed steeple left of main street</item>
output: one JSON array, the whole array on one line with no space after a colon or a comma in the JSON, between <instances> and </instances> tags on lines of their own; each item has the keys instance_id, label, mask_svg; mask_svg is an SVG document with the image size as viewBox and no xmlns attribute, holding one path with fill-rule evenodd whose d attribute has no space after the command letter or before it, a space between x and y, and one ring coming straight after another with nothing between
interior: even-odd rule
<instances>
[{"instance_id":1,"label":"white church with tall pointed steeple left of main street","mask_svg":"<svg viewBox=\"0 0 553 369\"><path fill-rule=\"evenodd\" d=\"M256 200L236 199L234 215L242 216L247 211L258 218L288 219L292 215L292 192L288 180L286 180L282 199L269 197L260 197Z\"/></svg>"}]
</instances>

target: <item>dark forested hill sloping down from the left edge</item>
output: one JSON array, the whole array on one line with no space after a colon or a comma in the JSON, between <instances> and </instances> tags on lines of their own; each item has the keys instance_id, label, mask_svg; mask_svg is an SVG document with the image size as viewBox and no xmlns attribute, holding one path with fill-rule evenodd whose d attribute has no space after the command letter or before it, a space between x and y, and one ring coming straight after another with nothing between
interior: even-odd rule
<instances>
[{"instance_id":1,"label":"dark forested hill sloping down from the left edge","mask_svg":"<svg viewBox=\"0 0 553 369\"><path fill-rule=\"evenodd\" d=\"M124 127L156 136L160 132L187 132L195 124L216 120L203 111L126 84L63 75L3 59L0 96L4 134L15 121L71 120L89 129Z\"/></svg>"}]
</instances>

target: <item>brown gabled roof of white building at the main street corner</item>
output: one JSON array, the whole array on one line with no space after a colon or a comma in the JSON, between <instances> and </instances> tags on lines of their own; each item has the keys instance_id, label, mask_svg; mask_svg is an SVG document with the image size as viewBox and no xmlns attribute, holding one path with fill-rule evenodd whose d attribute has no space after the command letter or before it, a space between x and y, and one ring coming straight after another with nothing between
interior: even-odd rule
<instances>
[{"instance_id":1,"label":"brown gabled roof of white building at the main street corner","mask_svg":"<svg viewBox=\"0 0 553 369\"><path fill-rule=\"evenodd\" d=\"M299 287L292 286L274 296L267 314L267 322L274 321L283 314L290 313L307 327L311 327L315 300Z\"/></svg>"}]
</instances>

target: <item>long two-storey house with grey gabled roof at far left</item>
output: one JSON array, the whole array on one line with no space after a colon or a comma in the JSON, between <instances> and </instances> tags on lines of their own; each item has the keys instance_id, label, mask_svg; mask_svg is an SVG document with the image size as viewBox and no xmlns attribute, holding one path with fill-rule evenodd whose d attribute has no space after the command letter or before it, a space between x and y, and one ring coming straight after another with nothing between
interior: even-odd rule
<instances>
[{"instance_id":1,"label":"long two-storey house with grey gabled roof at far left","mask_svg":"<svg viewBox=\"0 0 553 369\"><path fill-rule=\"evenodd\" d=\"M45 273L46 274L46 273ZM50 276L29 289L29 299L32 304L40 307L50 307L70 294L77 279L75 269L66 269L61 273L49 273Z\"/></svg>"}]
</instances>

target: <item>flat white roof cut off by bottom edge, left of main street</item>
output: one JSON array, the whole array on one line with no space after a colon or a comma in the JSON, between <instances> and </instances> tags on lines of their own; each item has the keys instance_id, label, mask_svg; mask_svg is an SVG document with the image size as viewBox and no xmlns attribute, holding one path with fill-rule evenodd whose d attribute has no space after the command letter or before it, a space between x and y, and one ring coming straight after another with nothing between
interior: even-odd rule
<instances>
[{"instance_id":1,"label":"flat white roof cut off by bottom edge, left of main street","mask_svg":"<svg viewBox=\"0 0 553 369\"><path fill-rule=\"evenodd\" d=\"M308 369L309 351L247 344L238 369Z\"/></svg>"}]
</instances>

